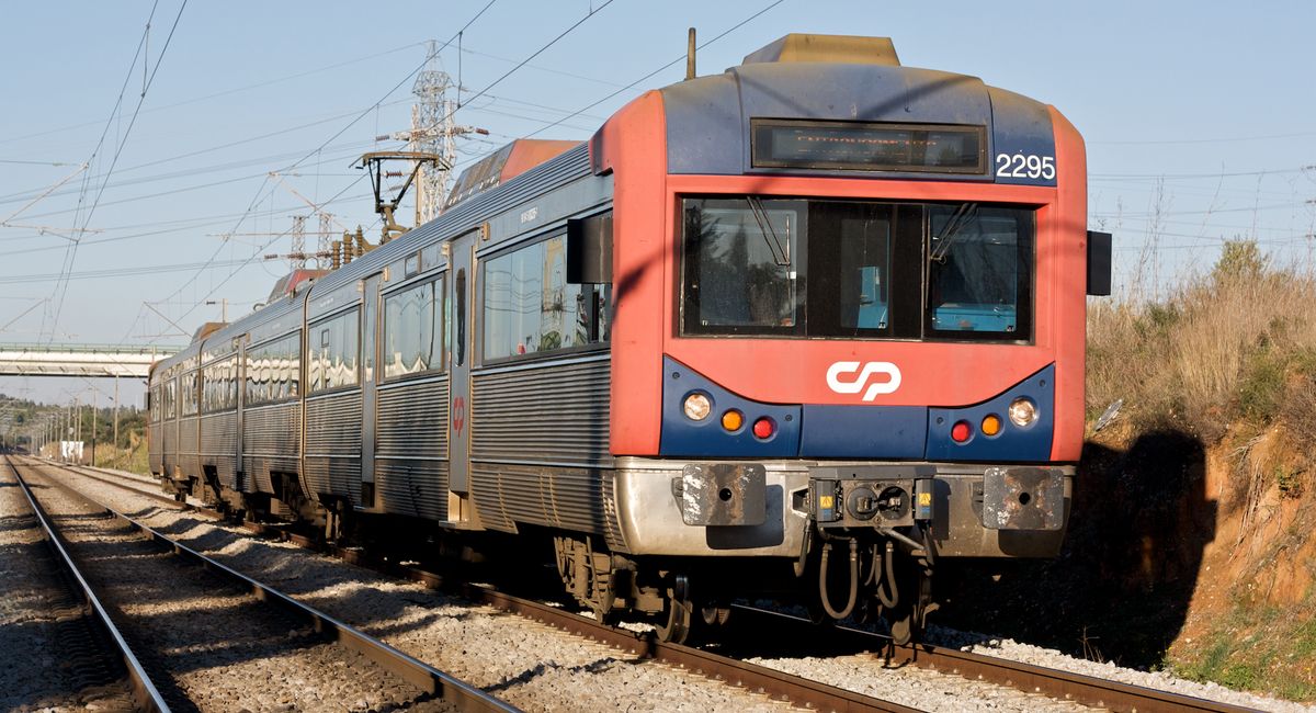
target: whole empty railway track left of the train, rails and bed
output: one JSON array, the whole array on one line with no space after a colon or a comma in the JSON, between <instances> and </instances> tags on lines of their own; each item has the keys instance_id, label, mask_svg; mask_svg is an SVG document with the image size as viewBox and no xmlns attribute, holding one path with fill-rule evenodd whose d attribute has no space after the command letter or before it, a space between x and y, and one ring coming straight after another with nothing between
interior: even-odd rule
<instances>
[{"instance_id":1,"label":"whole empty railway track left of the train, rails and bed","mask_svg":"<svg viewBox=\"0 0 1316 713\"><path fill-rule=\"evenodd\" d=\"M83 564L84 574L78 576L88 589L99 589L107 620L124 631L116 633L117 639L136 649L137 654L125 654L141 662L141 683L134 679L134 689L154 692L138 696L139 708L295 710L365 704L516 710L42 476L45 468L28 462L12 472L20 483L32 479L43 491L33 497L39 517L66 547L70 562Z\"/></svg>"}]
</instances>

